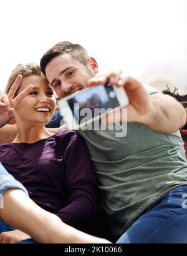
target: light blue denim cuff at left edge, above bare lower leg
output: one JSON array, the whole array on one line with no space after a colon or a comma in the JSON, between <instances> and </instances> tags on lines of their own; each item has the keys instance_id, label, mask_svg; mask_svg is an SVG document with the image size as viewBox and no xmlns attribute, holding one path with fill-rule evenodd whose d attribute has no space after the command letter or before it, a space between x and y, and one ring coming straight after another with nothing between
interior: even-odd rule
<instances>
[{"instance_id":1,"label":"light blue denim cuff at left edge, above bare lower leg","mask_svg":"<svg viewBox=\"0 0 187 256\"><path fill-rule=\"evenodd\" d=\"M0 198L9 188L18 188L28 193L26 188L24 188L20 182L17 182L17 180L5 170L0 162Z\"/></svg>"}]
</instances>

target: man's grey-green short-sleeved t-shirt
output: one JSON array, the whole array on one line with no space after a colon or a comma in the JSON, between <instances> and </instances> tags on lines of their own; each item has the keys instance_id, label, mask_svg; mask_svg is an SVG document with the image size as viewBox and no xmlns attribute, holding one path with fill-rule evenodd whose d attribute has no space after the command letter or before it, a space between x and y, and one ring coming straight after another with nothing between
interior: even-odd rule
<instances>
[{"instance_id":1,"label":"man's grey-green short-sleeved t-shirt","mask_svg":"<svg viewBox=\"0 0 187 256\"><path fill-rule=\"evenodd\" d=\"M151 86L145 88L150 95L160 93ZM107 125L104 131L100 124L99 130L78 131L89 147L101 204L116 238L151 203L172 188L187 184L180 131L162 135L140 123L128 123L127 136L116 136L120 125L115 123L116 130Z\"/></svg>"}]
</instances>

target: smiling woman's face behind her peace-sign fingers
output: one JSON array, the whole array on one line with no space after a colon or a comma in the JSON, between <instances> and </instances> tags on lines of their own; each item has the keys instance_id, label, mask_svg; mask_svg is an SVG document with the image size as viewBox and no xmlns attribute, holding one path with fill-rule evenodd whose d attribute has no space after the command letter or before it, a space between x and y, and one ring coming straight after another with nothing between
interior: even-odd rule
<instances>
[{"instance_id":1,"label":"smiling woman's face behind her peace-sign fingers","mask_svg":"<svg viewBox=\"0 0 187 256\"><path fill-rule=\"evenodd\" d=\"M17 93L21 93L29 84L34 88L15 109L17 125L24 121L31 125L46 125L55 110L55 96L46 77L31 74L23 78Z\"/></svg>"}]
</instances>

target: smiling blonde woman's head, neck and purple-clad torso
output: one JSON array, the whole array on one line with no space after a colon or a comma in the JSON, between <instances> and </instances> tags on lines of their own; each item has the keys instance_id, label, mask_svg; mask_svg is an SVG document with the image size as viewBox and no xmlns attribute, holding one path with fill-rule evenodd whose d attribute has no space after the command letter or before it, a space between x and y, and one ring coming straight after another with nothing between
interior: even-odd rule
<instances>
[{"instance_id":1,"label":"smiling blonde woman's head, neck and purple-clad torso","mask_svg":"<svg viewBox=\"0 0 187 256\"><path fill-rule=\"evenodd\" d=\"M15 95L11 90L14 81L19 85ZM27 188L37 205L72 227L86 230L97 205L89 151L75 131L54 135L46 129L55 98L38 65L18 65L12 71L6 87L9 100L29 84L34 84L31 92L14 108L17 136L12 143L0 146L1 163Z\"/></svg>"}]
</instances>

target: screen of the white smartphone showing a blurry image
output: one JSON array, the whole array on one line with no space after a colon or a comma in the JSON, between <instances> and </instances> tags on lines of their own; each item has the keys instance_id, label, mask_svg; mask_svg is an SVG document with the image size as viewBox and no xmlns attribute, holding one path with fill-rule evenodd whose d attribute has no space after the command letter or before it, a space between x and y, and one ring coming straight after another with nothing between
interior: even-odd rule
<instances>
[{"instance_id":1,"label":"screen of the white smartphone showing a blurry image","mask_svg":"<svg viewBox=\"0 0 187 256\"><path fill-rule=\"evenodd\" d=\"M79 124L83 119L84 121L90 120L101 113L105 113L106 110L117 108L120 105L113 86L110 86L109 83L93 86L67 100L67 103Z\"/></svg>"}]
</instances>

